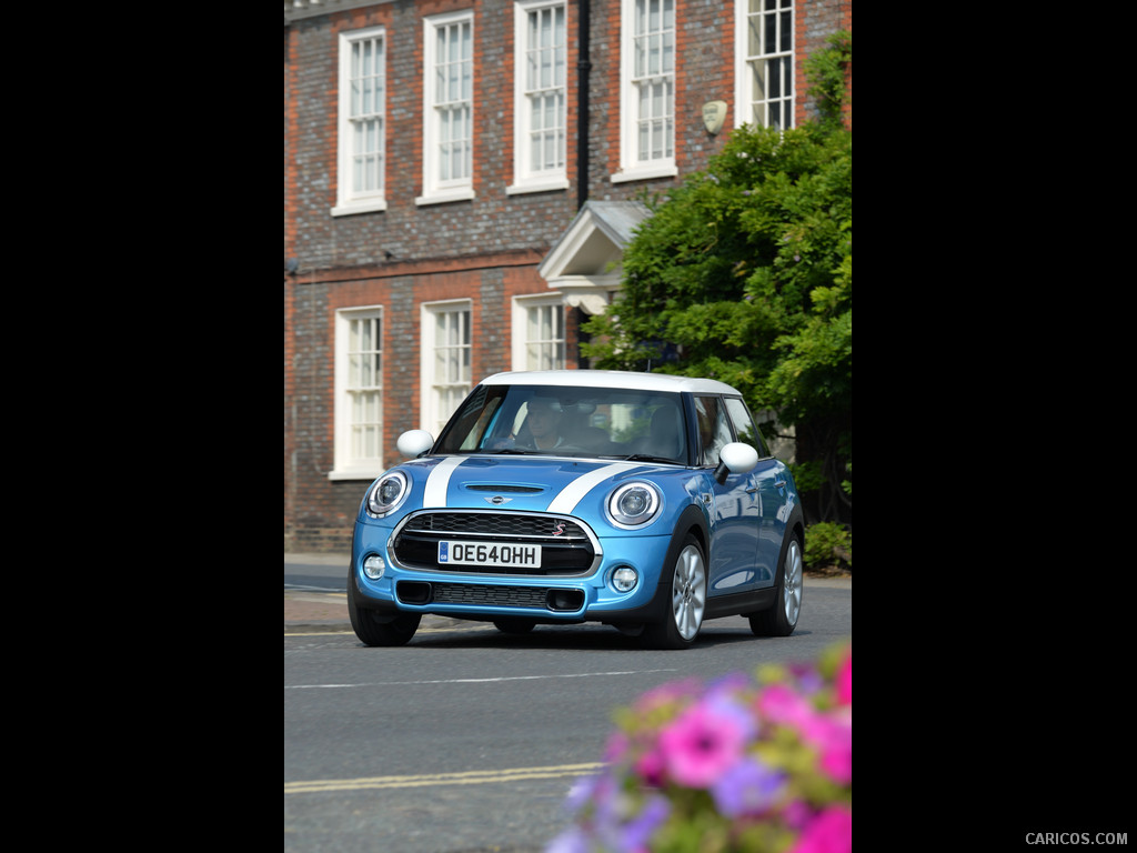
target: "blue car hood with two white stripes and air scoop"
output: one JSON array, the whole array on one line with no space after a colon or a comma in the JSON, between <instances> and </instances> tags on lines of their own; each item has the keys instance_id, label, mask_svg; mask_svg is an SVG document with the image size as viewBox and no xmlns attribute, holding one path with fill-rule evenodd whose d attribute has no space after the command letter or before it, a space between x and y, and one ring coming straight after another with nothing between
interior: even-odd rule
<instances>
[{"instance_id":1,"label":"blue car hood with two white stripes and air scoop","mask_svg":"<svg viewBox=\"0 0 1137 853\"><path fill-rule=\"evenodd\" d=\"M542 456L434 456L402 465L422 488L418 506L570 514L592 489L681 467ZM653 477L653 479L655 479Z\"/></svg>"}]
</instances>

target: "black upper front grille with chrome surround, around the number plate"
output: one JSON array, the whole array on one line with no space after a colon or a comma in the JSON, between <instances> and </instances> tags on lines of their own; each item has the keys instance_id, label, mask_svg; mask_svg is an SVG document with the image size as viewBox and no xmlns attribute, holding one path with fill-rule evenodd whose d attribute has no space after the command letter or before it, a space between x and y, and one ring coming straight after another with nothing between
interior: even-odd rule
<instances>
[{"instance_id":1,"label":"black upper front grille with chrome surround, around the number plate","mask_svg":"<svg viewBox=\"0 0 1137 853\"><path fill-rule=\"evenodd\" d=\"M491 541L541 546L541 565L531 568L438 563L440 541ZM540 513L487 511L423 511L408 516L395 531L399 565L426 571L511 577L579 577L599 565L595 537L578 521Z\"/></svg>"}]
</instances>

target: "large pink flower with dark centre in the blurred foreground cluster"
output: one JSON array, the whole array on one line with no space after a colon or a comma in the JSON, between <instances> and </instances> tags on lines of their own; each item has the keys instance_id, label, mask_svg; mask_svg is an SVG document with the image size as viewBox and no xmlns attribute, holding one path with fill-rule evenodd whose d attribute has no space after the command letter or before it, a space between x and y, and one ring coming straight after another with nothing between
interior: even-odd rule
<instances>
[{"instance_id":1,"label":"large pink flower with dark centre in the blurred foreground cluster","mask_svg":"<svg viewBox=\"0 0 1137 853\"><path fill-rule=\"evenodd\" d=\"M659 736L672 779L690 788L706 788L741 757L754 731L745 709L722 699L687 709Z\"/></svg>"}]
</instances>

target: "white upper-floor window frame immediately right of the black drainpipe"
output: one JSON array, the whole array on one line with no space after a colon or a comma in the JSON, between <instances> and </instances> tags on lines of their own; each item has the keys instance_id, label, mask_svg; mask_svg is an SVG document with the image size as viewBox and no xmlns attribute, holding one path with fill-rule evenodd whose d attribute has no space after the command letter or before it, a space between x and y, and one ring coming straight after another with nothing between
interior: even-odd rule
<instances>
[{"instance_id":1,"label":"white upper-floor window frame immediately right of the black drainpipe","mask_svg":"<svg viewBox=\"0 0 1137 853\"><path fill-rule=\"evenodd\" d=\"M639 111L640 89L636 83L636 23L639 18L639 6L650 2L671 3L672 65L670 73L671 98L669 119L671 125L671 156L640 159L639 127L641 116ZM620 20L620 171L611 175L609 180L612 183L621 183L624 181L641 181L649 177L673 177L679 174L679 168L675 164L678 146L675 86L679 80L679 55L675 49L675 36L679 31L679 2L678 0L621 0ZM657 76L664 77L667 75L659 74Z\"/></svg>"}]
</instances>

